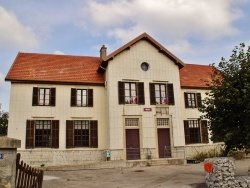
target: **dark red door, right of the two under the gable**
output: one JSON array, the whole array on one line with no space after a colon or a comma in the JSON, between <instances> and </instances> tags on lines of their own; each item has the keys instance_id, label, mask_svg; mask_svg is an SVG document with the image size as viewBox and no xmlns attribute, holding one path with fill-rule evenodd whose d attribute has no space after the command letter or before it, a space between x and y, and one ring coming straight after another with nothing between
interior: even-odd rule
<instances>
[{"instance_id":1,"label":"dark red door, right of the two under the gable","mask_svg":"<svg viewBox=\"0 0 250 188\"><path fill-rule=\"evenodd\" d=\"M157 129L159 158L171 157L169 129Z\"/></svg>"}]
</instances>

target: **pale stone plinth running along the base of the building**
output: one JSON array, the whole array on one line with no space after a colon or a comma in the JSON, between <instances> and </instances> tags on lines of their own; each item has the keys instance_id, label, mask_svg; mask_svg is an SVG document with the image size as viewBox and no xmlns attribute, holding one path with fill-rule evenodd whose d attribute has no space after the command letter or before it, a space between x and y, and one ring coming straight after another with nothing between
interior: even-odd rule
<instances>
[{"instance_id":1,"label":"pale stone plinth running along the base of the building","mask_svg":"<svg viewBox=\"0 0 250 188\"><path fill-rule=\"evenodd\" d=\"M200 152L219 152L222 144L202 144L173 147L171 149L171 158L185 159L188 156L197 155ZM36 148L18 150L25 163L32 166L57 166L57 165L78 165L91 162L105 161L106 150L96 150L92 148L76 148L76 149L51 149L51 148ZM141 148L141 160L158 158L156 148ZM110 160L126 160L126 151L122 149L111 150Z\"/></svg>"}]
</instances>

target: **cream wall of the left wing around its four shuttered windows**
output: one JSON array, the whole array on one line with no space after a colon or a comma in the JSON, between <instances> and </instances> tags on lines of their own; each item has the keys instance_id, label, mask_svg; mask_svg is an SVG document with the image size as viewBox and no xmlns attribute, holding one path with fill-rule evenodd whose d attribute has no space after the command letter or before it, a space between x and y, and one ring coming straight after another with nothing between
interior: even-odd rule
<instances>
[{"instance_id":1,"label":"cream wall of the left wing around its four shuttered windows","mask_svg":"<svg viewBox=\"0 0 250 188\"><path fill-rule=\"evenodd\" d=\"M56 106L32 106L33 87L55 87ZM83 88L86 86L76 85L51 85L51 84L11 84L10 117L8 136L22 140L21 150L25 149L26 121L27 120L59 120L59 149L65 149L66 143L66 120L98 120L99 148L106 149L107 138L105 132L105 99L103 87L91 87L94 89L94 106L96 108L70 107L70 89ZM64 135L64 136L63 136Z\"/></svg>"}]
</instances>

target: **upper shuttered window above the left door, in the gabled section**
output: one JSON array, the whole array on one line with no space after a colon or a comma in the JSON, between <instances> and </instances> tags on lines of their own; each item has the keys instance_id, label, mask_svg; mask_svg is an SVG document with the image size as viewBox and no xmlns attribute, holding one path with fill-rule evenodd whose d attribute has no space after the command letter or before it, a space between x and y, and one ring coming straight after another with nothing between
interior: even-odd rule
<instances>
[{"instance_id":1,"label":"upper shuttered window above the left door, in the gabled section","mask_svg":"<svg viewBox=\"0 0 250 188\"><path fill-rule=\"evenodd\" d=\"M118 82L119 104L145 104L143 82Z\"/></svg>"}]
</instances>

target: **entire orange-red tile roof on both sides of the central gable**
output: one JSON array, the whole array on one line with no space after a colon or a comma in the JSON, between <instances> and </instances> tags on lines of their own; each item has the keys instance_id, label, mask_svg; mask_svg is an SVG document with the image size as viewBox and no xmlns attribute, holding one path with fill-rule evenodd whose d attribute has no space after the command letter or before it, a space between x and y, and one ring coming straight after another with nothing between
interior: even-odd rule
<instances>
[{"instance_id":1,"label":"entire orange-red tile roof on both sides of the central gable","mask_svg":"<svg viewBox=\"0 0 250 188\"><path fill-rule=\"evenodd\" d=\"M19 53L5 80L103 85L99 65L99 57ZM186 64L180 69L181 87L207 88L212 70L212 66Z\"/></svg>"}]
</instances>

